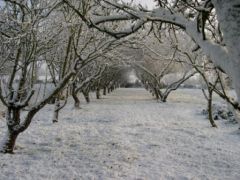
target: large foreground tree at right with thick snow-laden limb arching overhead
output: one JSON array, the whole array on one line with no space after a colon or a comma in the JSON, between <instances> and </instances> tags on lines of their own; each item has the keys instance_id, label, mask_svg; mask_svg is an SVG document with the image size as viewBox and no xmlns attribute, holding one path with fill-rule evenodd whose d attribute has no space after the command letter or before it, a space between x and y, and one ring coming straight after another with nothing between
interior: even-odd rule
<instances>
[{"instance_id":1,"label":"large foreground tree at right with thick snow-laden limb arching overhead","mask_svg":"<svg viewBox=\"0 0 240 180\"><path fill-rule=\"evenodd\" d=\"M239 1L208 0L208 1L157 1L153 10L129 6L116 1L98 0L98 5L112 9L113 13L92 15L90 19L81 16L67 0L64 3L71 6L80 17L92 27L106 32L116 38L126 37L137 32L146 23L158 23L159 30L165 24L170 28L181 28L210 57L216 67L224 70L233 80L234 88L240 99L240 52ZM119 10L119 11L115 11ZM114 29L109 22L132 21L125 28Z\"/></svg>"}]
</instances>

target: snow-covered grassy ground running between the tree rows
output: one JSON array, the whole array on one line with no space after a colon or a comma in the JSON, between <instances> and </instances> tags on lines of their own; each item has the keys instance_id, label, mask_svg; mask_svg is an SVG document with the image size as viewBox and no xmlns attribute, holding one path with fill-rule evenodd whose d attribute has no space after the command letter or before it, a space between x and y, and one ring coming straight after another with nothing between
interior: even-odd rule
<instances>
[{"instance_id":1,"label":"snow-covered grassy ground running between the tree rows","mask_svg":"<svg viewBox=\"0 0 240 180\"><path fill-rule=\"evenodd\" d=\"M205 104L200 90L176 91L163 104L143 89L118 89L79 110L70 101L56 124L48 105L15 154L0 154L0 180L239 180L238 126L211 128Z\"/></svg>"}]
</instances>

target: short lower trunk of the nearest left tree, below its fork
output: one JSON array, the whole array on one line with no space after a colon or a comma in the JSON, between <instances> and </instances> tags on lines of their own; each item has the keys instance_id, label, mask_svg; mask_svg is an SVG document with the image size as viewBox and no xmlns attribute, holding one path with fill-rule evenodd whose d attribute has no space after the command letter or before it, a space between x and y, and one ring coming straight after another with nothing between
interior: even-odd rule
<instances>
[{"instance_id":1,"label":"short lower trunk of the nearest left tree, below its fork","mask_svg":"<svg viewBox=\"0 0 240 180\"><path fill-rule=\"evenodd\" d=\"M18 132L14 132L8 129L3 142L0 144L0 152L12 154L18 135Z\"/></svg>"}]
</instances>

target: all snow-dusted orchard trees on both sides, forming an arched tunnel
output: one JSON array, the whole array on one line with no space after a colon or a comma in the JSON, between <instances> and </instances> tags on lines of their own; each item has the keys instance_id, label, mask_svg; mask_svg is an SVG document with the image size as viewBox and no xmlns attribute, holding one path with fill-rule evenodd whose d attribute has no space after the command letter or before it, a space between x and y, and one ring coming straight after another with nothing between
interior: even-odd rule
<instances>
[{"instance_id":1,"label":"all snow-dusted orchard trees on both sides, forming an arched tunnel","mask_svg":"<svg viewBox=\"0 0 240 180\"><path fill-rule=\"evenodd\" d=\"M238 0L156 2L148 10L115 0L4 0L0 99L7 109L7 130L0 151L12 153L18 135L50 101L57 122L68 96L78 108L80 92L86 101L91 90L97 98L101 89L106 94L116 85L122 65L135 68L145 87L163 102L200 74L213 127L213 92L239 110L239 101L229 98L222 81L222 73L231 77L239 99ZM51 79L52 88L41 96L36 82L43 67L45 86ZM163 77L176 71L179 79L166 84Z\"/></svg>"}]
</instances>

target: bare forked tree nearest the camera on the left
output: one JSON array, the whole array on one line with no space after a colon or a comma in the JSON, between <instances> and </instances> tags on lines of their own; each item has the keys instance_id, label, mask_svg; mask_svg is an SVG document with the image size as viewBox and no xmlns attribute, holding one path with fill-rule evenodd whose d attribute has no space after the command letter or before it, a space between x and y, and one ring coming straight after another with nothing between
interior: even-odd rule
<instances>
[{"instance_id":1,"label":"bare forked tree nearest the camera on the left","mask_svg":"<svg viewBox=\"0 0 240 180\"><path fill-rule=\"evenodd\" d=\"M72 31L67 33L66 39L63 38L66 29L71 30L73 26L59 24L61 18L57 16L59 11L55 10L60 10L60 5L58 1L5 1L1 11L0 37L4 40L1 49L5 50L1 55L7 57L4 64L10 70L0 83L0 99L7 108L6 137L0 145L3 153L12 153L18 135L29 127L34 115L52 98L59 98L64 88L85 66L99 57L102 49L107 51L107 47L115 42L111 38L105 42L96 38L91 47L83 45L80 48L77 47L80 43L73 43L76 39ZM63 45L60 46L60 43ZM54 87L46 96L34 102L36 65L42 62L48 66ZM59 100L55 104L54 120L57 120L63 105ZM23 109L26 110L25 116L22 115Z\"/></svg>"}]
</instances>

